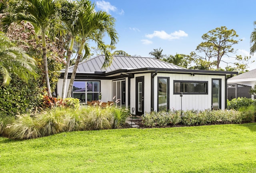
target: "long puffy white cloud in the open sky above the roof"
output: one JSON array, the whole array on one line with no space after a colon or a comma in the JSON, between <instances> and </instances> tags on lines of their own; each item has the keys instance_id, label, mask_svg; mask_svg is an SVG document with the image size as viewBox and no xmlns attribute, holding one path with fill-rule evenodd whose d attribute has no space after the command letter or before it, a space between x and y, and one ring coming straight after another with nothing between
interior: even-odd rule
<instances>
[{"instance_id":1,"label":"long puffy white cloud in the open sky above the roof","mask_svg":"<svg viewBox=\"0 0 256 173\"><path fill-rule=\"evenodd\" d=\"M153 34L146 34L147 38L153 38L158 37L163 40L174 40L174 39L180 39L181 37L187 37L188 34L182 30L172 32L171 34L167 34L164 30L162 31L154 31Z\"/></svg>"}]
</instances>

